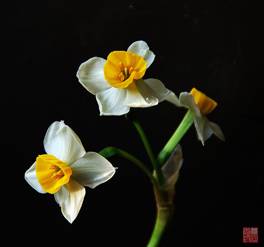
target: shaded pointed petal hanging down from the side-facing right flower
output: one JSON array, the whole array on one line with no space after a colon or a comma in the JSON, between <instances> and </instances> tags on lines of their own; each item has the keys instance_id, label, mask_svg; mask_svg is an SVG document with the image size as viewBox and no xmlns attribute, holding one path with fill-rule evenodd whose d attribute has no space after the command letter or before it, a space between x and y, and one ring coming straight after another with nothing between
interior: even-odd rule
<instances>
[{"instance_id":1,"label":"shaded pointed petal hanging down from the side-facing right flower","mask_svg":"<svg viewBox=\"0 0 264 247\"><path fill-rule=\"evenodd\" d=\"M202 144L214 133L209 125L208 118L205 115L194 116L194 125Z\"/></svg>"}]
</instances>

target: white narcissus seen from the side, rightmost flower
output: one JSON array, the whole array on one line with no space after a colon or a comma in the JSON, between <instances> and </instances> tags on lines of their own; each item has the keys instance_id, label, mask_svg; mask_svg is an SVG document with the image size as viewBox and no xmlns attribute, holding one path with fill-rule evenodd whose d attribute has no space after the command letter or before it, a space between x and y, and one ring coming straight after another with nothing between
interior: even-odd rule
<instances>
[{"instance_id":1,"label":"white narcissus seen from the side, rightmost flower","mask_svg":"<svg viewBox=\"0 0 264 247\"><path fill-rule=\"evenodd\" d=\"M217 103L204 93L193 88L190 93L183 92L178 98L173 92L170 92L166 100L173 103L175 106L190 108L193 111L197 136L202 141L203 145L212 134L215 134L222 141L225 141L220 127L210 122L205 116L214 110Z\"/></svg>"}]
</instances>

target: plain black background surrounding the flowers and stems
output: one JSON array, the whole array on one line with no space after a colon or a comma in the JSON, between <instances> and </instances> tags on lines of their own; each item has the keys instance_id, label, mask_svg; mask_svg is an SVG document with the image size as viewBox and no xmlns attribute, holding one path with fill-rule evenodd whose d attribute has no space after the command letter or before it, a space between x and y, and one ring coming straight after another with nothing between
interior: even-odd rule
<instances>
[{"instance_id":1,"label":"plain black background surrounding the flowers and stems","mask_svg":"<svg viewBox=\"0 0 264 247\"><path fill-rule=\"evenodd\" d=\"M262 1L6 1L1 9L3 246L146 246L152 185L128 160L110 159L119 169L86 187L73 224L53 195L24 180L45 153L46 130L60 120L87 152L115 146L151 169L134 126L124 116L99 116L76 77L82 62L137 40L156 55L143 79L213 98L208 118L226 137L202 146L191 127L182 139L175 216L161 246L240 246L243 227L258 227L263 243ZM155 155L185 114L167 102L135 112Z\"/></svg>"}]
</instances>

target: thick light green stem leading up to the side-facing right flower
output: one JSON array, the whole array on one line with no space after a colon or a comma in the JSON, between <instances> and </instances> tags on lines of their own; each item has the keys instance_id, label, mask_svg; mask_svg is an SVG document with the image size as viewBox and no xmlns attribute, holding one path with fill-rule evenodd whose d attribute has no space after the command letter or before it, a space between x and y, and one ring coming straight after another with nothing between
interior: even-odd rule
<instances>
[{"instance_id":1,"label":"thick light green stem leading up to the side-facing right flower","mask_svg":"<svg viewBox=\"0 0 264 247\"><path fill-rule=\"evenodd\" d=\"M182 119L182 122L179 124L178 128L175 130L167 144L164 146L164 148L161 150L161 152L158 155L158 162L162 166L167 161L167 159L170 157L173 150L177 147L182 137L185 135L187 130L190 128L190 126L194 122L194 112L189 109L184 118Z\"/></svg>"}]
</instances>

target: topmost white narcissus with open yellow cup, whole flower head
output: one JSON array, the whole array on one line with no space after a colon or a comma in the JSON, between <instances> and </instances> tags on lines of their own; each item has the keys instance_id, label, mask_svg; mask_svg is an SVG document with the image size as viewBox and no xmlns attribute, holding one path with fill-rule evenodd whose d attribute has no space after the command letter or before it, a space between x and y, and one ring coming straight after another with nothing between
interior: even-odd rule
<instances>
[{"instance_id":1,"label":"topmost white narcissus with open yellow cup, whole flower head","mask_svg":"<svg viewBox=\"0 0 264 247\"><path fill-rule=\"evenodd\" d=\"M107 60L90 58L77 72L79 82L96 95L100 115L123 115L130 107L150 107L170 93L160 80L142 77L155 55L144 41L136 41L128 51L111 52Z\"/></svg>"}]
</instances>

